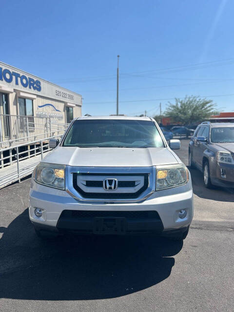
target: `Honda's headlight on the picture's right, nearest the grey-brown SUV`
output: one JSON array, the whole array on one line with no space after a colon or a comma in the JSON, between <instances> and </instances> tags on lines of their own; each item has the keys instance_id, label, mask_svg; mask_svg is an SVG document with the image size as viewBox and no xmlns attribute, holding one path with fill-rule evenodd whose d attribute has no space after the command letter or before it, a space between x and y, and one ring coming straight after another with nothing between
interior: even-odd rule
<instances>
[{"instance_id":1,"label":"Honda's headlight on the picture's right, nearest the grey-brown SUV","mask_svg":"<svg viewBox=\"0 0 234 312\"><path fill-rule=\"evenodd\" d=\"M156 167L156 191L184 185L189 180L189 172L184 164Z\"/></svg>"}]
</instances>

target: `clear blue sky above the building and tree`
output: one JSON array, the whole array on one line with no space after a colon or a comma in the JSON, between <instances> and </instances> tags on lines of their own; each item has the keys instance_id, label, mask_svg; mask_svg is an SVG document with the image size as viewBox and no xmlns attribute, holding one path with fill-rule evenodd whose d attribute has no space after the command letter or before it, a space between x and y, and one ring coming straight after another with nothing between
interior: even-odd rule
<instances>
[{"instance_id":1,"label":"clear blue sky above the building and tree","mask_svg":"<svg viewBox=\"0 0 234 312\"><path fill-rule=\"evenodd\" d=\"M83 97L82 114L158 114L207 96L234 111L233 0L1 0L0 60ZM220 96L222 95L222 96ZM173 100L171 100L173 102Z\"/></svg>"}]
</instances>

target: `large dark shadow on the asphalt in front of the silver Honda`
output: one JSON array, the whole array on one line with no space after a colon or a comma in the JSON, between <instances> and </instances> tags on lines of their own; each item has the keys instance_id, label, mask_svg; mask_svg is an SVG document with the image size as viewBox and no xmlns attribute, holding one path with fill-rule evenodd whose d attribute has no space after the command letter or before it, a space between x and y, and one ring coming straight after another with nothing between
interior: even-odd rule
<instances>
[{"instance_id":1,"label":"large dark shadow on the asphalt in front of the silver Honda","mask_svg":"<svg viewBox=\"0 0 234 312\"><path fill-rule=\"evenodd\" d=\"M41 241L27 209L1 228L0 297L91 300L123 296L166 279L183 242L144 236ZM11 272L12 271L12 272Z\"/></svg>"}]
</instances>

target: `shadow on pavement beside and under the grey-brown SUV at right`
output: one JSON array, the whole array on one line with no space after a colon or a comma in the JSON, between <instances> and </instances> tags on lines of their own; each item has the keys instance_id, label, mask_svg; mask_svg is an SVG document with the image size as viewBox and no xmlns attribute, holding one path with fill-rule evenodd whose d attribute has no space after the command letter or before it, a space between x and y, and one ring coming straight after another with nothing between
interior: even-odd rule
<instances>
[{"instance_id":1,"label":"shadow on pavement beside and under the grey-brown SUV at right","mask_svg":"<svg viewBox=\"0 0 234 312\"><path fill-rule=\"evenodd\" d=\"M217 186L214 186L213 189L207 189L204 186L202 173L196 169L188 169L192 177L193 191L195 195L201 198L217 201L234 201L234 192L232 189L228 190Z\"/></svg>"}]
</instances>

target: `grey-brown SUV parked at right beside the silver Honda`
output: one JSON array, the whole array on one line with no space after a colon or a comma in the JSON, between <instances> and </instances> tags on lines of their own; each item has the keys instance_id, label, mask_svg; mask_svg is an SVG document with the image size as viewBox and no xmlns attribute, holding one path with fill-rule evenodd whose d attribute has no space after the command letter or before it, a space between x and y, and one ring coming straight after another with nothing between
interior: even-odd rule
<instances>
[{"instance_id":1,"label":"grey-brown SUV parked at right beside the silver Honda","mask_svg":"<svg viewBox=\"0 0 234 312\"><path fill-rule=\"evenodd\" d=\"M207 188L234 188L234 123L202 122L189 143L189 166L203 172Z\"/></svg>"}]
</instances>

